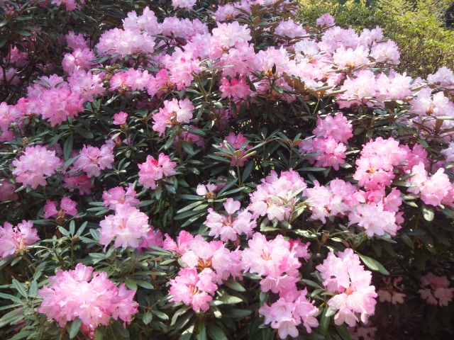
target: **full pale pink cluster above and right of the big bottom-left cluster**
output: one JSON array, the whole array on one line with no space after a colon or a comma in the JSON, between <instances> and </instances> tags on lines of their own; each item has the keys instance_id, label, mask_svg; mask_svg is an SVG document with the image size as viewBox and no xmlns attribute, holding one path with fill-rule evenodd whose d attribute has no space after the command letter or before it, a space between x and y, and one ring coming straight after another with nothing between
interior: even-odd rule
<instances>
[{"instance_id":1,"label":"full pale pink cluster above and right of the big bottom-left cluster","mask_svg":"<svg viewBox=\"0 0 454 340\"><path fill-rule=\"evenodd\" d=\"M115 248L138 248L140 241L145 239L150 231L148 216L128 204L117 204L115 215L106 216L99 225L99 243L104 244L104 251L114 238Z\"/></svg>"}]
</instances>

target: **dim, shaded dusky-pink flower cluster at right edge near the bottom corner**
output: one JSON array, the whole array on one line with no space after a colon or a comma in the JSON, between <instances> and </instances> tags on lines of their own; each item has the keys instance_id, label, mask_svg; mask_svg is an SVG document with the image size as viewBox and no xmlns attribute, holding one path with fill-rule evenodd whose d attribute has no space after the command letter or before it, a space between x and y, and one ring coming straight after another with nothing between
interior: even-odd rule
<instances>
[{"instance_id":1,"label":"dim, shaded dusky-pink flower cluster at right edge near the bottom corner","mask_svg":"<svg viewBox=\"0 0 454 340\"><path fill-rule=\"evenodd\" d=\"M429 287L427 287L429 285ZM421 299L426 300L429 305L447 306L453 300L454 288L448 288L450 282L446 276L435 276L427 273L421 277Z\"/></svg>"}]
</instances>

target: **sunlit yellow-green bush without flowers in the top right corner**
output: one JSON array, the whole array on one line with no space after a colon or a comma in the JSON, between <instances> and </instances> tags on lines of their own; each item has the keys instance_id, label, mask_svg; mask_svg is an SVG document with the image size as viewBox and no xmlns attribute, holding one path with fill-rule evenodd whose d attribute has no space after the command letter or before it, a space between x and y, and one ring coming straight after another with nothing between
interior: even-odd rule
<instances>
[{"instance_id":1,"label":"sunlit yellow-green bush without flowers in the top right corner","mask_svg":"<svg viewBox=\"0 0 454 340\"><path fill-rule=\"evenodd\" d=\"M339 26L357 30L380 26L399 45L402 56L396 69L400 72L426 77L438 67L454 65L454 31L444 27L442 9L436 6L436 1L300 2L303 6L299 16L308 22L314 22L323 13L331 13Z\"/></svg>"}]
</instances>

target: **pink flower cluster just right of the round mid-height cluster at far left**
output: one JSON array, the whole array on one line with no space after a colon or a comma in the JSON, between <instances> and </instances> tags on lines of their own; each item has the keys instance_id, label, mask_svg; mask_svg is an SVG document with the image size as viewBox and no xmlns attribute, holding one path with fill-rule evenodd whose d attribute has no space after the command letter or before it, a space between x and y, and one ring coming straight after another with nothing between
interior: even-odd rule
<instances>
[{"instance_id":1,"label":"pink flower cluster just right of the round mid-height cluster at far left","mask_svg":"<svg viewBox=\"0 0 454 340\"><path fill-rule=\"evenodd\" d=\"M114 149L112 145L105 144L99 149L99 147L88 147L84 145L84 148L80 152L80 157L74 162L74 168L84 171L88 178L101 176L101 170L112 169L112 163L114 163Z\"/></svg>"}]
</instances>

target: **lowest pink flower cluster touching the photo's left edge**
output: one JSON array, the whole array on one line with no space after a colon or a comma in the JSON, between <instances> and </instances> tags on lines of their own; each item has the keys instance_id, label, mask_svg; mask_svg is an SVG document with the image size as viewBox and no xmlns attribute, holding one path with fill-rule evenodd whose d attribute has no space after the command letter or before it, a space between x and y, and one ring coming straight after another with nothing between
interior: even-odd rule
<instances>
[{"instance_id":1,"label":"lowest pink flower cluster touching the photo's left edge","mask_svg":"<svg viewBox=\"0 0 454 340\"><path fill-rule=\"evenodd\" d=\"M18 254L39 239L38 230L33 228L33 222L23 220L16 227L5 222L4 226L0 227L0 258L5 259Z\"/></svg>"}]
</instances>

